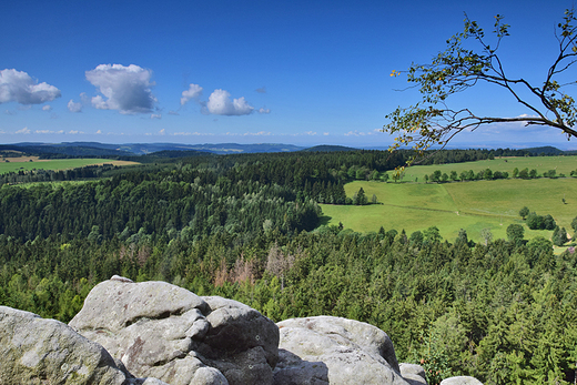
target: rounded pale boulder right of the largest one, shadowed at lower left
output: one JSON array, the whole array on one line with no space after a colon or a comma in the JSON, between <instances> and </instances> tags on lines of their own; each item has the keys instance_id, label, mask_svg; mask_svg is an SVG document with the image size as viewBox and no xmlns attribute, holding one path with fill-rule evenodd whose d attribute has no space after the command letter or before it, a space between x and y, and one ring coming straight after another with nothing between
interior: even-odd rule
<instances>
[{"instance_id":1,"label":"rounded pale boulder right of the largest one, shadowed at lower left","mask_svg":"<svg viewBox=\"0 0 577 385\"><path fill-rule=\"evenodd\" d=\"M293 318L281 331L275 385L406 385L391 338L370 324L332 316Z\"/></svg>"}]
</instances>

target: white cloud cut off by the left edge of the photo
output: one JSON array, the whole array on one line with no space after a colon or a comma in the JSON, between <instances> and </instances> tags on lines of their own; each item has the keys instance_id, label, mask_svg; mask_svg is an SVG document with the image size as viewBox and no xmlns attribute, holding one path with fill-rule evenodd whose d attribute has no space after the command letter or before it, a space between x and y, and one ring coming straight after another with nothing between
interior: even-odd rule
<instances>
[{"instance_id":1,"label":"white cloud cut off by the left edge of the photo","mask_svg":"<svg viewBox=\"0 0 577 385\"><path fill-rule=\"evenodd\" d=\"M60 98L60 90L54 85L30 78L23 71L0 71L0 103L42 104Z\"/></svg>"}]
</instances>

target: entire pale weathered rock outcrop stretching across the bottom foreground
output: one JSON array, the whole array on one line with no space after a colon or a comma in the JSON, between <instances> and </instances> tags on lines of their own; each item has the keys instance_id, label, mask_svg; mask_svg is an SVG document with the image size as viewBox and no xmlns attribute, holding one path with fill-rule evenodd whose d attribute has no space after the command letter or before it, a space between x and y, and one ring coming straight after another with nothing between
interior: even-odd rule
<instances>
[{"instance_id":1,"label":"entire pale weathered rock outcrop stretching across the bottom foreground","mask_svg":"<svg viewBox=\"0 0 577 385\"><path fill-rule=\"evenodd\" d=\"M275 325L236 301L119 276L90 292L70 326L0 306L0 353L11 363L0 385L426 385L423 367L398 365L386 333L366 323Z\"/></svg>"}]
</instances>

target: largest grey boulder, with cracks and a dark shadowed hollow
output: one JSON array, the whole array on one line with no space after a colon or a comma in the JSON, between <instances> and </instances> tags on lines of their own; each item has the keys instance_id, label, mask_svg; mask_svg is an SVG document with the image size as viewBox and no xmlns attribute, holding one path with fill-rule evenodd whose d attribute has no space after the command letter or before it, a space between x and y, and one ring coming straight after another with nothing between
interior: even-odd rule
<instances>
[{"instance_id":1,"label":"largest grey boulder, with cracks and a dark shadowed hollow","mask_svg":"<svg viewBox=\"0 0 577 385\"><path fill-rule=\"evenodd\" d=\"M279 328L236 301L113 276L70 322L140 377L171 385L272 384Z\"/></svg>"}]
</instances>

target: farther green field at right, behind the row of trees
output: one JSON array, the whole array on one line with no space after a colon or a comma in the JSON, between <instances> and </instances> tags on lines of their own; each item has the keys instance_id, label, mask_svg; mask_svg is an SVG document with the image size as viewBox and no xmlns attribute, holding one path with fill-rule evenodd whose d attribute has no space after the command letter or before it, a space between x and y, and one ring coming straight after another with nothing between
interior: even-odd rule
<instances>
[{"instance_id":1,"label":"farther green field at right, behind the row of trees","mask_svg":"<svg viewBox=\"0 0 577 385\"><path fill-rule=\"evenodd\" d=\"M513 175L513 169L535 169L539 175L549 170L556 170L557 175L560 173L569 176L569 173L577 170L577 156L520 156L520 158L498 158L494 160L466 162L466 163L452 163L452 164L432 164L432 165L415 165L406 169L403 176L403 181L414 182L418 179L418 182L425 181L425 175L431 175L435 170L441 170L442 173L451 174L452 171L456 171L460 174L463 171L473 170L475 173L490 169L495 171L506 171L509 173L509 178ZM388 172L392 176L392 172Z\"/></svg>"}]
</instances>

